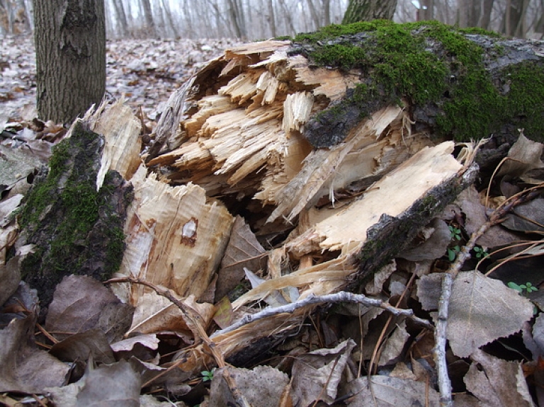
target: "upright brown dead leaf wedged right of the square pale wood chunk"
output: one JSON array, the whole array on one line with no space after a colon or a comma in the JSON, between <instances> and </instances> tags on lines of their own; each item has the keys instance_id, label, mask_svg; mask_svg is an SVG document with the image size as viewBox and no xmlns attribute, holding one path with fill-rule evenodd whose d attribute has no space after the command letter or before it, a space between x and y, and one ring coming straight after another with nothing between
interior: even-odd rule
<instances>
[{"instance_id":1,"label":"upright brown dead leaf wedged right of the square pale wood chunk","mask_svg":"<svg viewBox=\"0 0 544 407\"><path fill-rule=\"evenodd\" d=\"M234 219L225 256L221 260L221 268L217 272L219 277L215 301L219 301L239 285L244 278L244 267L249 270L263 268L264 262L261 261L261 254L264 252L263 246L257 241L244 218L237 215Z\"/></svg>"}]
</instances>

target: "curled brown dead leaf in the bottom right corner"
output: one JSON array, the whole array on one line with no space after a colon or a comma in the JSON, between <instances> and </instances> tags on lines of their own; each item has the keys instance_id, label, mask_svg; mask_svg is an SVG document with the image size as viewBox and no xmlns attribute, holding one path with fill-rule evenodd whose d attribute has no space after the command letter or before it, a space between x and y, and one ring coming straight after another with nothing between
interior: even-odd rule
<instances>
[{"instance_id":1,"label":"curled brown dead leaf in the bottom right corner","mask_svg":"<svg viewBox=\"0 0 544 407\"><path fill-rule=\"evenodd\" d=\"M465 375L467 390L487 407L534 406L519 362L507 362L475 350Z\"/></svg>"}]
</instances>

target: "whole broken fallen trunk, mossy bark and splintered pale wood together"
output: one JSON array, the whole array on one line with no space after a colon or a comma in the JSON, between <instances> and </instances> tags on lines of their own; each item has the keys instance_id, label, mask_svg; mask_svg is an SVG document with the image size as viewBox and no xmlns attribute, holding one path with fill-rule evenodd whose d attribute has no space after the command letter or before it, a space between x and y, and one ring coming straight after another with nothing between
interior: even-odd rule
<instances>
[{"instance_id":1,"label":"whole broken fallen trunk, mossy bark and splintered pale wood together","mask_svg":"<svg viewBox=\"0 0 544 407\"><path fill-rule=\"evenodd\" d=\"M125 280L113 290L137 307L130 333L194 339L179 352L186 372L213 363L199 340L212 319L225 328L211 335L215 350L249 355L317 306L229 329L252 304L339 292L397 256L474 180L468 139L538 133L544 92L516 74L543 79L540 43L517 50L438 23L343 29L227 50L171 96L137 170L133 145L105 134L98 174L115 169L108 157L134 164L123 173L135 188ZM115 114L86 120L98 128L104 117ZM234 294L244 275L251 290Z\"/></svg>"}]
</instances>

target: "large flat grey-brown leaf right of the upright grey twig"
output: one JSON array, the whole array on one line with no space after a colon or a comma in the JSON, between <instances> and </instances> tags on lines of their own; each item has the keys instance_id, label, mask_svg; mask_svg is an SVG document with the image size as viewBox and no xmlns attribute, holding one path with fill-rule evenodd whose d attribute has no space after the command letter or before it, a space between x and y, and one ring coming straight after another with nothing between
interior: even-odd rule
<instances>
[{"instance_id":1,"label":"large flat grey-brown leaf right of the upright grey twig","mask_svg":"<svg viewBox=\"0 0 544 407\"><path fill-rule=\"evenodd\" d=\"M532 316L533 304L499 280L477 271L459 273L450 297L447 338L455 355L467 357L520 331Z\"/></svg>"}]
</instances>

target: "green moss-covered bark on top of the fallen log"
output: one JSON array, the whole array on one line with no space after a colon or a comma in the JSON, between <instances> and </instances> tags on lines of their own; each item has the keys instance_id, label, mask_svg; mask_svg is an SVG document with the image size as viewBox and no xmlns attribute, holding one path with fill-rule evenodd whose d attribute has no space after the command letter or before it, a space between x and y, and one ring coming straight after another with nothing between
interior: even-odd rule
<instances>
[{"instance_id":1,"label":"green moss-covered bark on top of the fallen log","mask_svg":"<svg viewBox=\"0 0 544 407\"><path fill-rule=\"evenodd\" d=\"M423 111L424 120L416 120L441 137L480 139L514 124L543 140L542 58L524 59L494 33L436 21L329 25L297 35L291 54L297 53L319 66L361 74L362 84L343 101L312 117L306 133L314 147L336 144L358 120L402 98ZM337 120L346 125L339 128Z\"/></svg>"}]
</instances>

